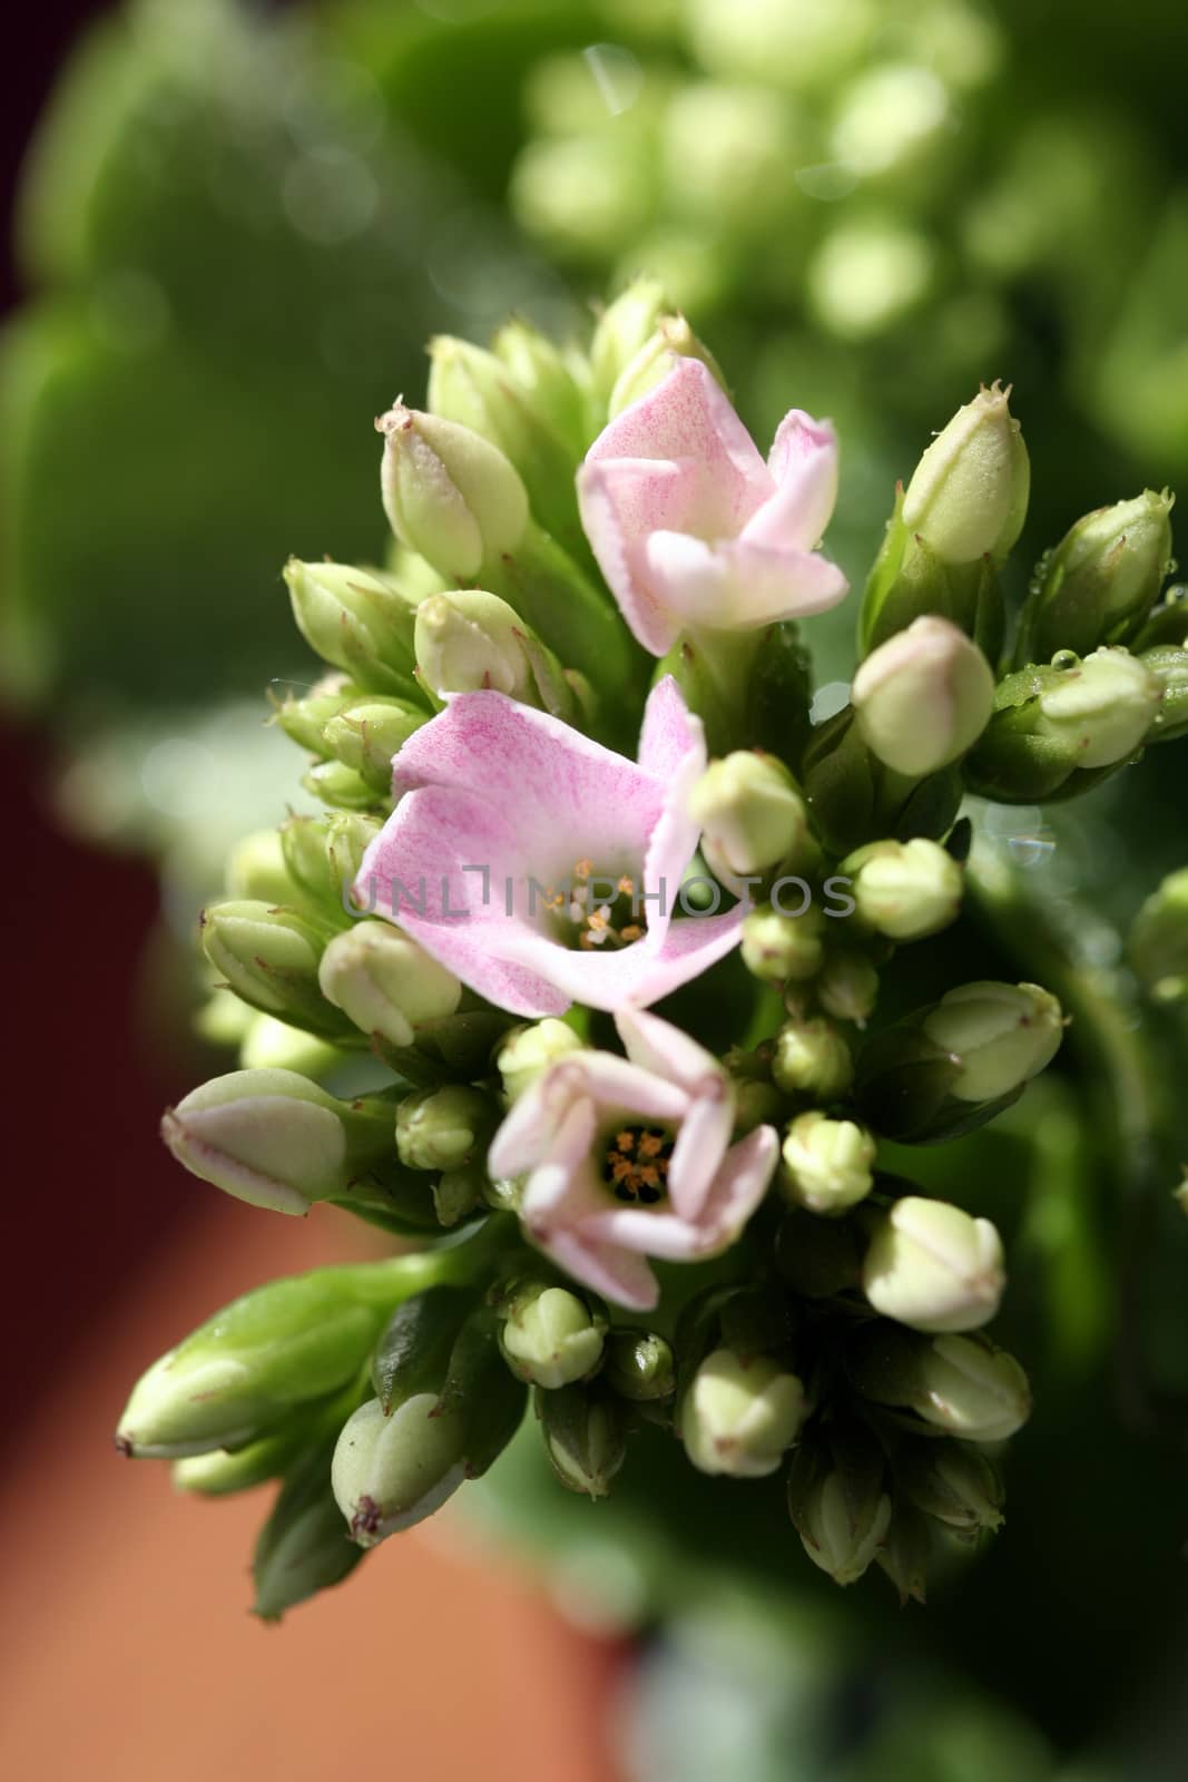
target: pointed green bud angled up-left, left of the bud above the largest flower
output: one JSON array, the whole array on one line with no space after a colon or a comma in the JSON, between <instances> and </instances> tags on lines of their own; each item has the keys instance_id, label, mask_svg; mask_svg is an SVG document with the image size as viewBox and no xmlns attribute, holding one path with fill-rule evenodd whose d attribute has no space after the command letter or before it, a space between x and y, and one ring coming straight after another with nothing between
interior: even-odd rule
<instances>
[{"instance_id":1,"label":"pointed green bud angled up-left, left of the bud above the largest flower","mask_svg":"<svg viewBox=\"0 0 1188 1782\"><path fill-rule=\"evenodd\" d=\"M363 688L417 699L415 608L376 570L290 558L285 581L301 636Z\"/></svg>"}]
</instances>

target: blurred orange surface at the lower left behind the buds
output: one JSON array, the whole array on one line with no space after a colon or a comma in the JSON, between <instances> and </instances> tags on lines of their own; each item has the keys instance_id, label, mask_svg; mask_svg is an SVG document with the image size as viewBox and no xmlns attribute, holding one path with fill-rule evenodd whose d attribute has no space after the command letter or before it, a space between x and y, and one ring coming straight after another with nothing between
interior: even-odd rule
<instances>
[{"instance_id":1,"label":"blurred orange surface at the lower left behind the buds","mask_svg":"<svg viewBox=\"0 0 1188 1782\"><path fill-rule=\"evenodd\" d=\"M285 1219L207 1192L123 1304L77 1335L12 1451L0 1773L613 1782L620 1654L568 1629L511 1563L413 1531L265 1627L248 1613L246 1566L267 1490L192 1499L166 1465L116 1456L128 1386L173 1340L246 1287L362 1253L360 1228L335 1215Z\"/></svg>"}]
</instances>

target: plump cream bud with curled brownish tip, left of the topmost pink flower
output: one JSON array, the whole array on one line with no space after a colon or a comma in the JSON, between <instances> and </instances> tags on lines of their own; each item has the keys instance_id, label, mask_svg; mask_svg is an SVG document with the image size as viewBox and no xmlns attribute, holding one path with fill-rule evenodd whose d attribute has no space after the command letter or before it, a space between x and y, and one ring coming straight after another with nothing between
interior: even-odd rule
<instances>
[{"instance_id":1,"label":"plump cream bud with curled brownish tip, left of the topmost pink flower","mask_svg":"<svg viewBox=\"0 0 1188 1782\"><path fill-rule=\"evenodd\" d=\"M474 581L484 560L515 551L529 524L518 472L470 428L395 403L385 437L383 506L397 538L451 581Z\"/></svg>"}]
</instances>

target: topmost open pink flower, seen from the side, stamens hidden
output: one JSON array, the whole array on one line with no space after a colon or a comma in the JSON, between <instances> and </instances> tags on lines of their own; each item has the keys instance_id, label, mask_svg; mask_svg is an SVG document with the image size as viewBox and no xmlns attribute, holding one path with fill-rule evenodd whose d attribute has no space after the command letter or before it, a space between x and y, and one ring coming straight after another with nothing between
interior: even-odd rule
<instances>
[{"instance_id":1,"label":"topmost open pink flower, seen from the side, stamens hidden","mask_svg":"<svg viewBox=\"0 0 1188 1782\"><path fill-rule=\"evenodd\" d=\"M753 631L846 593L814 552L837 499L834 429L793 408L764 463L696 358L598 435L577 497L623 618L654 656L686 627Z\"/></svg>"}]
</instances>

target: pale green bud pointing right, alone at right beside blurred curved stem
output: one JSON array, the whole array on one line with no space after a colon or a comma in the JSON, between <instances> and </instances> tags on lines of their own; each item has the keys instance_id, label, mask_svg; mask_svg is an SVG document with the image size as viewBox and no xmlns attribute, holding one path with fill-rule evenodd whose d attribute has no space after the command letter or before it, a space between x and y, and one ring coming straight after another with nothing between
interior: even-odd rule
<instances>
[{"instance_id":1,"label":"pale green bud pointing right, alone at right beside blurred curved stem","mask_svg":"<svg viewBox=\"0 0 1188 1782\"><path fill-rule=\"evenodd\" d=\"M1063 1010L1038 984L960 984L924 1016L928 1039L958 1060L949 1094L997 1101L1056 1057Z\"/></svg>"}]
</instances>

